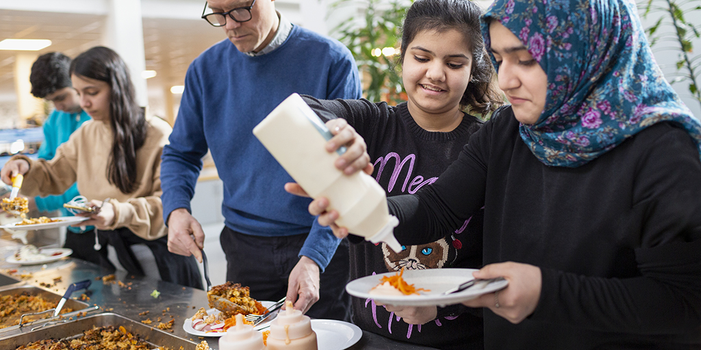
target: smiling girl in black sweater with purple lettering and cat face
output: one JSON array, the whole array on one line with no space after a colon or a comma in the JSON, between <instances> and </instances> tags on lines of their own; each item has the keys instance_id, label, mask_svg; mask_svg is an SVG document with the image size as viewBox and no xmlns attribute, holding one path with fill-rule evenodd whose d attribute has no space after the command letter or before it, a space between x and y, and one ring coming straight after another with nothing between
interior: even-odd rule
<instances>
[{"instance_id":1,"label":"smiling girl in black sweater with purple lettering and cat face","mask_svg":"<svg viewBox=\"0 0 701 350\"><path fill-rule=\"evenodd\" d=\"M397 106L304 97L322 116L339 117L367 143L373 177L388 197L433 183L458 158L485 115L501 103L479 29L482 10L468 0L418 0L402 27L402 78L409 97ZM358 238L358 237L356 237ZM395 253L351 239L351 278L442 267L482 266L482 212L425 244ZM465 312L470 311L470 312ZM401 318L400 318L401 317ZM385 307L353 298L353 323L392 339L441 349L483 349L481 313L467 307Z\"/></svg>"}]
</instances>

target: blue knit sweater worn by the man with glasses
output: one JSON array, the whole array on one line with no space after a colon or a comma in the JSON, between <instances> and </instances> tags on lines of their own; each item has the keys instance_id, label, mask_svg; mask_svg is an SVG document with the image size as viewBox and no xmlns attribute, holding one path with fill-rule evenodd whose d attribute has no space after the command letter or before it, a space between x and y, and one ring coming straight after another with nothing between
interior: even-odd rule
<instances>
[{"instance_id":1,"label":"blue knit sweater worn by the man with glasses","mask_svg":"<svg viewBox=\"0 0 701 350\"><path fill-rule=\"evenodd\" d=\"M190 65L180 110L163 149L163 215L190 211L201 158L212 152L224 183L222 214L232 230L248 235L288 236L328 230L308 214L310 202L285 192L292 178L252 130L293 92L320 99L357 99L358 69L351 52L338 41L294 26L283 45L250 57L221 41ZM300 255L324 269L338 240L330 233L308 239Z\"/></svg>"}]
</instances>

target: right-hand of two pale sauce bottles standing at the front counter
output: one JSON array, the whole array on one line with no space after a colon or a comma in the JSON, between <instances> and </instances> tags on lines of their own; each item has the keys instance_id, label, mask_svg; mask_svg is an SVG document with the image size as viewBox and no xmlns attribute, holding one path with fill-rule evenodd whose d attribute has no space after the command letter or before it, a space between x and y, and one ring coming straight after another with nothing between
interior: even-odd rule
<instances>
[{"instance_id":1,"label":"right-hand of two pale sauce bottles standing at the front counter","mask_svg":"<svg viewBox=\"0 0 701 350\"><path fill-rule=\"evenodd\" d=\"M292 302L285 302L285 311L280 311L270 323L268 350L317 350L316 333L311 329L309 316L295 310Z\"/></svg>"}]
</instances>

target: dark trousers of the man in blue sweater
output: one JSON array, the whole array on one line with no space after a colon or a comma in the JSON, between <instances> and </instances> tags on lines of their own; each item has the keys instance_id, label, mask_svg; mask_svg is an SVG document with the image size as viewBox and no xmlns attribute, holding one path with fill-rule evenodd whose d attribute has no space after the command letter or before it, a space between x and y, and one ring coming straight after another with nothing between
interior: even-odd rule
<instances>
[{"instance_id":1,"label":"dark trousers of the man in blue sweater","mask_svg":"<svg viewBox=\"0 0 701 350\"><path fill-rule=\"evenodd\" d=\"M262 237L245 235L224 226L219 241L226 254L226 280L248 286L256 300L277 301L287 295L287 279L299 262L307 235ZM319 301L307 311L312 318L351 321L348 240L343 239L320 276Z\"/></svg>"}]
</instances>

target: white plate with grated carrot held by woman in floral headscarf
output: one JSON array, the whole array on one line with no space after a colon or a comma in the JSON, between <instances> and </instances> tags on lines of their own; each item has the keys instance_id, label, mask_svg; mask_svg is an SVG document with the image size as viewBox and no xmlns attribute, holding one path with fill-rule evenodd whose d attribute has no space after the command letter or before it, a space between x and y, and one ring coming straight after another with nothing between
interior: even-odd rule
<instances>
[{"instance_id":1,"label":"white plate with grated carrot held by woman in floral headscarf","mask_svg":"<svg viewBox=\"0 0 701 350\"><path fill-rule=\"evenodd\" d=\"M355 279L346 284L348 294L363 299L372 299L382 304L406 305L406 306L432 306L450 305L474 299L485 293L493 293L496 290L506 288L508 281L494 281L489 284L475 284L468 289L458 293L440 295L450 288L455 288L461 283L470 281L472 272L476 269L406 269L402 278L415 288L428 289L430 291L420 291L420 295L371 295L370 289L377 286L382 276L393 276L397 272L387 272L386 274L376 274Z\"/></svg>"}]
</instances>

